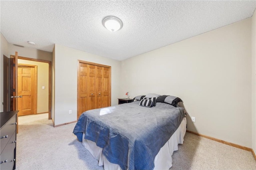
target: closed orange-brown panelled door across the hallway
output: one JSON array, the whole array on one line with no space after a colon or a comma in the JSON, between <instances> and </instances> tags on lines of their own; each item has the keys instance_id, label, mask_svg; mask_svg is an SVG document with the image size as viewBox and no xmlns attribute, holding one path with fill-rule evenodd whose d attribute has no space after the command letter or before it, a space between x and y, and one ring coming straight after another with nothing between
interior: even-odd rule
<instances>
[{"instance_id":1,"label":"closed orange-brown panelled door across the hallway","mask_svg":"<svg viewBox=\"0 0 256 170\"><path fill-rule=\"evenodd\" d=\"M35 66L18 66L18 116L36 114Z\"/></svg>"}]
</instances>

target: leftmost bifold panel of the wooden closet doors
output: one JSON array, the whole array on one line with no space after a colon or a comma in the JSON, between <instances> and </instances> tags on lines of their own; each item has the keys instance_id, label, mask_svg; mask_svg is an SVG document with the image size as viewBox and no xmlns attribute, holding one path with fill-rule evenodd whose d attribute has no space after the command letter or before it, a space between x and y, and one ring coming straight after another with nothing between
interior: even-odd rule
<instances>
[{"instance_id":1,"label":"leftmost bifold panel of the wooden closet doors","mask_svg":"<svg viewBox=\"0 0 256 170\"><path fill-rule=\"evenodd\" d=\"M88 65L79 63L78 66L78 114L77 119L82 113L88 110Z\"/></svg>"}]
</instances>

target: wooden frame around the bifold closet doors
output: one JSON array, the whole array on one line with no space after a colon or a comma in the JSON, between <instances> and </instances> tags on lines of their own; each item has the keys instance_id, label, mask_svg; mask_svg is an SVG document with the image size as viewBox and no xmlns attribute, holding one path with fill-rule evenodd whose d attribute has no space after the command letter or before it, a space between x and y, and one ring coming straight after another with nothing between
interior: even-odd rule
<instances>
[{"instance_id":1,"label":"wooden frame around the bifold closet doors","mask_svg":"<svg viewBox=\"0 0 256 170\"><path fill-rule=\"evenodd\" d=\"M83 63L83 64L90 64L90 65L95 65L95 66L99 66L99 67L106 67L106 68L109 68L109 104L111 106L111 66L109 65L103 65L103 64L98 64L98 63L92 63L92 62L88 62L88 61L82 61L82 60L79 60L78 59L78 62L77 62L77 120L78 120L78 115L79 115L79 99L80 99L80 84L79 84L79 81L80 81L80 72L79 72L79 63Z\"/></svg>"}]
</instances>

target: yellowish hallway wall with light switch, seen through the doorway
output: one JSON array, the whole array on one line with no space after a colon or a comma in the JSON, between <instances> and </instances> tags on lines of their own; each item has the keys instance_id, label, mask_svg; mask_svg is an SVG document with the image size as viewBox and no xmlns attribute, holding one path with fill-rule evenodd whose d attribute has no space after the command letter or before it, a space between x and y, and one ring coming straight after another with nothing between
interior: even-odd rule
<instances>
[{"instance_id":1,"label":"yellowish hallway wall with light switch, seen through the doorway","mask_svg":"<svg viewBox=\"0 0 256 170\"><path fill-rule=\"evenodd\" d=\"M49 64L37 61L18 59L18 64L37 65L37 112L48 113L49 103ZM45 89L42 89L42 86Z\"/></svg>"}]
</instances>

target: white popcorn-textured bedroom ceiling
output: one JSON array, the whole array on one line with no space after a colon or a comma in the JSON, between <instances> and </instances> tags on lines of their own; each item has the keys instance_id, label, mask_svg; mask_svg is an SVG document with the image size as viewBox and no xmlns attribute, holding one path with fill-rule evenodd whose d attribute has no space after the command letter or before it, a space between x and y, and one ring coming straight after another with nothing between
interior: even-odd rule
<instances>
[{"instance_id":1,"label":"white popcorn-textured bedroom ceiling","mask_svg":"<svg viewBox=\"0 0 256 170\"><path fill-rule=\"evenodd\" d=\"M50 52L56 43L120 61L246 19L256 8L255 0L0 3L1 33L9 43ZM123 28L104 28L108 15L120 18Z\"/></svg>"}]
</instances>

